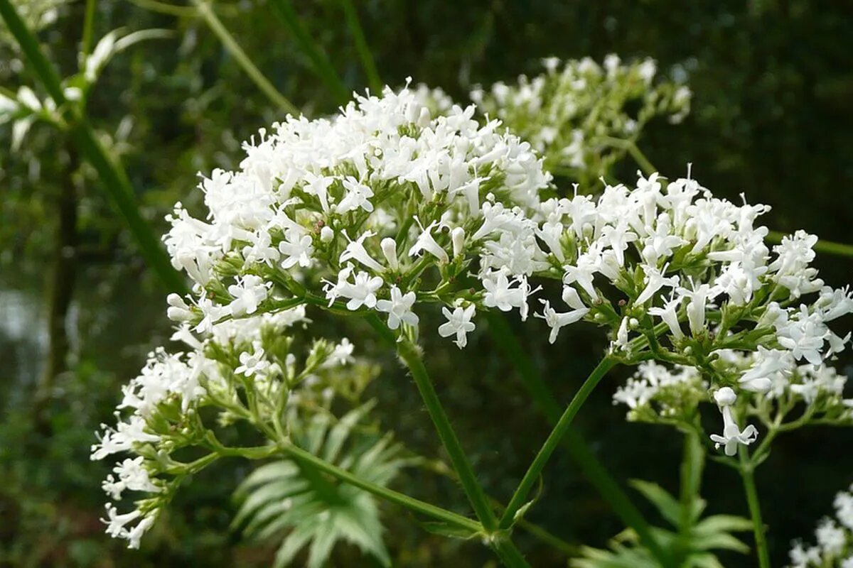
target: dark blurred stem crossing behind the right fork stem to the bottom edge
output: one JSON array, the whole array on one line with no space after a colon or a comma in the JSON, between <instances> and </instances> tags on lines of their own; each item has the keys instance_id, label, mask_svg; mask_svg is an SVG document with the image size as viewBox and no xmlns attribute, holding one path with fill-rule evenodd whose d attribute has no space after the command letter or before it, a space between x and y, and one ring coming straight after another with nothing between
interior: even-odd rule
<instances>
[{"instance_id":1,"label":"dark blurred stem crossing behind the right fork stem to the bottom edge","mask_svg":"<svg viewBox=\"0 0 853 568\"><path fill-rule=\"evenodd\" d=\"M521 346L519 339L507 324L507 319L500 313L488 312L486 318L489 320L489 330L492 337L506 353L508 361L514 364L515 370L521 376L525 387L534 404L537 404L540 412L545 415L548 422L553 426L560 420L560 404L551 393L542 373L537 369L530 356ZM634 529L646 547L652 551L655 558L664 560L664 551L652 536L646 519L643 518L640 509L631 502L627 493L619 486L616 479L607 471L604 465L595 457L583 436L570 427L566 430L566 450L572 455L572 459L583 470L583 474L599 492L601 497L610 505L613 512L626 526Z\"/></svg>"}]
</instances>

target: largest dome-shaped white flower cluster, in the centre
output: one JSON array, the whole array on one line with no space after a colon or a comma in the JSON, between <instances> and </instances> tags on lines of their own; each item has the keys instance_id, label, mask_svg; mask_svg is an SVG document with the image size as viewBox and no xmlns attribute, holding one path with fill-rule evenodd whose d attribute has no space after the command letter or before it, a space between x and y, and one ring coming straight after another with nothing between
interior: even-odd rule
<instances>
[{"instance_id":1,"label":"largest dome-shaped white flower cluster, in the centre","mask_svg":"<svg viewBox=\"0 0 853 568\"><path fill-rule=\"evenodd\" d=\"M402 331L416 301L439 301L460 346L475 304L525 316L527 277L546 266L535 219L549 175L473 106L433 118L422 98L386 89L334 118L287 118L244 146L239 171L204 179L204 220L181 204L169 218L172 263L195 283L172 315L207 329L324 297Z\"/></svg>"}]
</instances>

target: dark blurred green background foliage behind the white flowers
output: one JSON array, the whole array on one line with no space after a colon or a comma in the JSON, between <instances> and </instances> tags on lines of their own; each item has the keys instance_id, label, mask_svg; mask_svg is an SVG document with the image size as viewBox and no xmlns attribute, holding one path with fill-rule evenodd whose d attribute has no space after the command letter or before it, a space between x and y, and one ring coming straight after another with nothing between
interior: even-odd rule
<instances>
[{"instance_id":1,"label":"dark blurred green background foliage behind the white flowers","mask_svg":"<svg viewBox=\"0 0 853 568\"><path fill-rule=\"evenodd\" d=\"M55 3L53 3L55 4ZM347 89L363 90L363 73L339 0L295 3L299 19L328 55ZM240 141L281 112L223 49L191 8L175 14L151 0L97 3L95 37L116 28L171 30L117 55L89 100L90 120L131 176L143 212L162 232L163 216L182 200L192 207L198 171L233 169ZM662 69L688 72L693 110L680 125L650 123L639 145L665 175L693 175L718 195L771 204L770 227L804 228L853 241L853 8L820 0L737 0L674 3L450 3L365 0L354 3L382 80L440 86L467 101L476 84L537 73L539 60L608 53L651 56ZM339 100L311 71L310 60L264 0L219 2L220 19L277 89L311 117L334 112ZM84 3L59 4L39 38L65 75L76 71ZM0 85L37 84L8 33L0 34ZM9 124L0 146L9 149ZM630 158L615 175L630 179ZM268 565L275 543L247 544L229 531L231 492L248 471L234 462L206 472L180 494L139 552L103 535L106 473L90 462L93 432L145 353L170 335L164 291L148 273L131 238L67 140L35 124L20 149L0 152L0 566L252 566ZM64 219L64 221L62 221ZM70 230L69 230L70 227ZM850 261L823 256L828 282L850 280ZM322 314L310 313L322 321ZM424 330L438 324L424 314ZM594 366L605 340L572 326L548 346L543 324L513 322L525 348L560 400ZM355 325L355 324L353 324ZM548 425L531 404L505 353L478 330L464 357L447 341L424 334L427 363L463 444L487 491L513 491ZM365 330L337 330L352 338ZM362 353L369 340L360 339ZM362 347L364 346L364 347ZM381 422L410 450L426 456L438 440L415 388L389 355L374 383ZM841 364L847 364L842 361ZM624 422L610 396L620 370L594 393L577 426L621 480L651 479L677 487L681 441L669 430ZM786 561L792 538L808 536L835 491L853 481L853 433L807 431L778 442L758 474L774 565ZM452 480L409 469L397 485L427 501L464 511ZM740 481L709 464L704 495L711 513L746 513ZM636 494L634 494L636 496ZM637 496L637 503L647 503ZM647 510L650 510L647 508ZM386 543L395 565L489 565L485 548L421 531L399 510L386 514ZM530 519L572 544L601 547L622 529L565 453L554 456L543 496ZM565 565L528 536L520 547L532 565ZM727 566L752 564L723 556ZM334 565L370 565L342 549ZM493 565L493 564L492 564Z\"/></svg>"}]
</instances>

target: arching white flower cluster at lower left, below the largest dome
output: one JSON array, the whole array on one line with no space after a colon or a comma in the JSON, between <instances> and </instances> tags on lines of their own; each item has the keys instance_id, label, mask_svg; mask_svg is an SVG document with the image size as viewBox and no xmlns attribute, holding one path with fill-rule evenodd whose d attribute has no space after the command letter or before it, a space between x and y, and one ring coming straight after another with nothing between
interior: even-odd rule
<instances>
[{"instance_id":1,"label":"arching white flower cluster at lower left, below the largest dome","mask_svg":"<svg viewBox=\"0 0 853 568\"><path fill-rule=\"evenodd\" d=\"M117 423L102 425L91 458L125 456L102 483L107 502L107 534L138 548L143 534L171 501L177 485L223 455L213 427L203 416L218 412L219 427L245 420L262 433L287 432L285 418L310 399L328 399L347 382L362 382L353 362L352 344L314 341L305 359L298 360L291 336L284 335L305 321L305 308L263 314L239 321L212 324L196 336L189 327L173 340L189 346L187 353L159 348L124 388L116 410ZM283 421L283 422L282 422ZM272 438L272 436L268 436ZM189 448L212 453L193 462L178 461ZM113 458L114 459L114 458ZM127 492L142 493L135 507L120 513L113 503Z\"/></svg>"}]
</instances>

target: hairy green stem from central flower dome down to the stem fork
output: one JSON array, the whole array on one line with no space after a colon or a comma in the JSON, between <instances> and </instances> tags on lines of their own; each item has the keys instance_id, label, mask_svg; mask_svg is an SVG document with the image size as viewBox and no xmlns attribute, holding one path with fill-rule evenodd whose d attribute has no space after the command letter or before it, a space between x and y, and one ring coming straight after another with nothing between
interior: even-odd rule
<instances>
[{"instance_id":1,"label":"hairy green stem from central flower dome down to the stem fork","mask_svg":"<svg viewBox=\"0 0 853 568\"><path fill-rule=\"evenodd\" d=\"M427 368L423 364L421 354L418 353L418 348L409 339L401 338L397 341L397 354L400 359L403 359L403 363L409 368L409 372L415 380L415 385L417 385L421 399L427 406L427 412L432 418L432 423L438 430L438 438L441 439L444 449L450 456L450 463L456 469L462 489L465 491L468 501L471 502L474 512L477 513L477 517L486 531L495 531L497 528L495 513L489 505L483 488L479 485L477 476L473 472L471 463L468 462L465 451L462 450L459 439L456 438L456 432L450 425L450 419L444 412L444 406L438 399L435 388L432 387L432 381L427 374Z\"/></svg>"}]
</instances>

